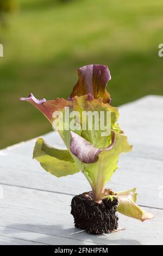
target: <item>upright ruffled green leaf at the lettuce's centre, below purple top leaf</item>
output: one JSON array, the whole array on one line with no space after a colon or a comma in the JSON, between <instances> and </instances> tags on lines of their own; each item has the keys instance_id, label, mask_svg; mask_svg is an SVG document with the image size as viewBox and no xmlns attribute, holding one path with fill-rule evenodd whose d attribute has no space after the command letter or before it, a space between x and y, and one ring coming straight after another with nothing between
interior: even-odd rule
<instances>
[{"instance_id":1,"label":"upright ruffled green leaf at the lettuce's centre, below purple top leaf","mask_svg":"<svg viewBox=\"0 0 163 256\"><path fill-rule=\"evenodd\" d=\"M81 136L86 139L86 141L90 142L97 148L106 148L111 143L111 130L122 133L120 127L117 124L117 120L119 118L120 113L118 112L118 108L110 106L108 103L103 103L102 99L99 98L97 100L92 99L91 95L84 95L80 97L74 97L72 99L73 106L72 110L78 111L80 113L80 124L81 124ZM82 118L82 113L87 112L90 115L87 115L85 119ZM100 124L100 115L103 112L104 114L104 123L106 126L106 114L110 113L110 118L108 123L110 123L110 136L101 136L102 132ZM95 122L93 113L98 113L99 120ZM93 121L91 121L92 119ZM82 129L82 123L85 126L85 130ZM89 125L92 124L92 129L89 129ZM107 124L108 125L108 124ZM96 129L96 126L99 129ZM106 130L105 130L106 131ZM79 134L79 133L78 133Z\"/></svg>"}]
</instances>

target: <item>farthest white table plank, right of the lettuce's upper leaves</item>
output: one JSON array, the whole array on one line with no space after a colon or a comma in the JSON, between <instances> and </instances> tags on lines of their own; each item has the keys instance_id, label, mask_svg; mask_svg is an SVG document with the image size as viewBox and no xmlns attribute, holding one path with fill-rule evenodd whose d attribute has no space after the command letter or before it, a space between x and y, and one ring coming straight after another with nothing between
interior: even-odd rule
<instances>
[{"instance_id":1,"label":"farthest white table plank, right of the lettuce's upper leaves","mask_svg":"<svg viewBox=\"0 0 163 256\"><path fill-rule=\"evenodd\" d=\"M140 100L130 102L120 107L120 120L122 130L128 135L133 145L147 145L148 150L144 152L152 157L151 147L162 149L163 137L163 96L146 96ZM160 155L158 151L157 154Z\"/></svg>"}]
</instances>

